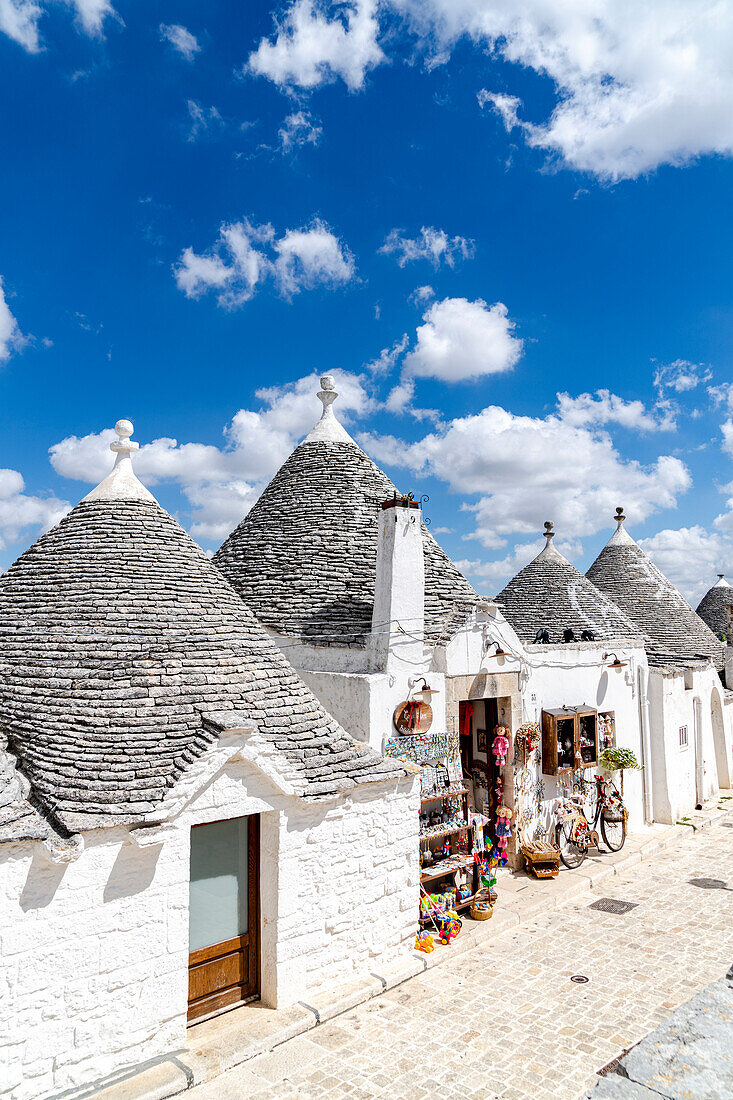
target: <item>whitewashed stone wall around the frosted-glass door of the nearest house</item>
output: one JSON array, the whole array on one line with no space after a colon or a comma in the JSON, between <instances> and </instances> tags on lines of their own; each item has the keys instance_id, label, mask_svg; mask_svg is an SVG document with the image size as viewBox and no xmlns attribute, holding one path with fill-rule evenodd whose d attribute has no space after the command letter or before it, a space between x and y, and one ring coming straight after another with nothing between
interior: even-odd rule
<instances>
[{"instance_id":1,"label":"whitewashed stone wall around the frosted-glass door of the nearest house","mask_svg":"<svg viewBox=\"0 0 733 1100\"><path fill-rule=\"evenodd\" d=\"M230 761L162 843L88 834L76 862L0 846L0 1080L11 1100L98 1081L186 1045L190 826L261 813L262 993L283 1007L378 970L415 934L413 778L325 805Z\"/></svg>"}]
</instances>

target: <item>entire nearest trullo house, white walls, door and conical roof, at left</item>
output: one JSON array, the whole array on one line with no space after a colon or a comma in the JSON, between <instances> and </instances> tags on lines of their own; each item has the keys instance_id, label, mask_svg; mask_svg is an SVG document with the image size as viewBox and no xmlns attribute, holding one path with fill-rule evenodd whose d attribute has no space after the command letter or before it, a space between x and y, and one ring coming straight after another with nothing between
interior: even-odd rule
<instances>
[{"instance_id":1,"label":"entire nearest trullo house, white walls, door and conical roof, at left","mask_svg":"<svg viewBox=\"0 0 733 1100\"><path fill-rule=\"evenodd\" d=\"M112 473L0 578L13 1100L88 1096L187 1023L307 1000L415 928L414 776L324 710L116 430Z\"/></svg>"}]
</instances>

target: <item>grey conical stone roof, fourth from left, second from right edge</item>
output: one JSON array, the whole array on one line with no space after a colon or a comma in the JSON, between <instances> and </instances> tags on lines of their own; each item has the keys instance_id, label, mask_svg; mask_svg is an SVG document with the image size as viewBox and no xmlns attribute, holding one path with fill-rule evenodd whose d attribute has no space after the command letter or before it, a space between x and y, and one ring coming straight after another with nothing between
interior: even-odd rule
<instances>
[{"instance_id":1,"label":"grey conical stone roof, fourth from left, second from right edge","mask_svg":"<svg viewBox=\"0 0 733 1100\"><path fill-rule=\"evenodd\" d=\"M647 635L652 663L711 657L721 669L722 644L634 541L625 518L623 508L616 508L616 530L588 570L588 579Z\"/></svg>"}]
</instances>

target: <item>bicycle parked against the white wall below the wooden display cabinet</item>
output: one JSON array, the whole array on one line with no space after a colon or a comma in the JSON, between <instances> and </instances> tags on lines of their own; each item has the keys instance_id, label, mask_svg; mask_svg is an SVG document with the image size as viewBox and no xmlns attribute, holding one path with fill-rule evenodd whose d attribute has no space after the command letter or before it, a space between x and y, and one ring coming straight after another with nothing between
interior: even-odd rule
<instances>
[{"instance_id":1,"label":"bicycle parked against the white wall below the wooden display cabinet","mask_svg":"<svg viewBox=\"0 0 733 1100\"><path fill-rule=\"evenodd\" d=\"M558 800L555 838L566 867L580 867L589 848L600 848L597 825L610 851L621 851L626 840L628 812L617 789L604 776L595 776L595 810L586 814L582 794Z\"/></svg>"}]
</instances>

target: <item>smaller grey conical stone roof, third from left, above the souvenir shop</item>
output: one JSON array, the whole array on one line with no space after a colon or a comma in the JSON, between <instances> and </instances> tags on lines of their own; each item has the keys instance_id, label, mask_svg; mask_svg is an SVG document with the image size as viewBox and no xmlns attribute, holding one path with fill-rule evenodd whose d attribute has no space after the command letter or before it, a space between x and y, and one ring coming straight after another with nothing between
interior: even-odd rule
<instances>
[{"instance_id":1,"label":"smaller grey conical stone roof, third from left, above the souvenir shop","mask_svg":"<svg viewBox=\"0 0 733 1100\"><path fill-rule=\"evenodd\" d=\"M544 549L496 596L522 641L532 642L538 630L547 630L550 642L560 642L566 629L576 641L583 630L599 641L637 637L638 628L623 612L556 550L554 535L553 524L545 524Z\"/></svg>"}]
</instances>

